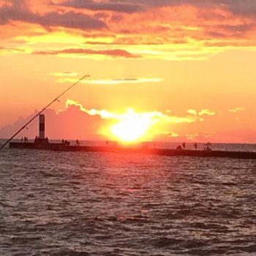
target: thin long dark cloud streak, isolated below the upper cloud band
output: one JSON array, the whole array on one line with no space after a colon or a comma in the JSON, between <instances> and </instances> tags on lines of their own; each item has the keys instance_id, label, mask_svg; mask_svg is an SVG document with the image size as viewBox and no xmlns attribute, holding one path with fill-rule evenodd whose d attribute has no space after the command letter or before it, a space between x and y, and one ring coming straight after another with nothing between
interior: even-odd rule
<instances>
[{"instance_id":1,"label":"thin long dark cloud streak, isolated below the upper cloud band","mask_svg":"<svg viewBox=\"0 0 256 256\"><path fill-rule=\"evenodd\" d=\"M91 49L64 49L64 50L50 50L50 51L38 51L34 54L42 55L58 55L58 54L78 54L78 55L104 55L113 58L140 58L139 55L129 53L127 50L115 49L115 50L91 50Z\"/></svg>"}]
</instances>

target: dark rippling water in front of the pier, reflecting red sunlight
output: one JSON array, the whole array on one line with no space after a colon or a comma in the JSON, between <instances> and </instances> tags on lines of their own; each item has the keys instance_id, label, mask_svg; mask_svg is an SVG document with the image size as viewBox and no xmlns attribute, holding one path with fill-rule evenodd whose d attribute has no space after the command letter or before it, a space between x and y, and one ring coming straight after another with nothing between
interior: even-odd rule
<instances>
[{"instance_id":1,"label":"dark rippling water in front of the pier, reflecting red sunlight","mask_svg":"<svg viewBox=\"0 0 256 256\"><path fill-rule=\"evenodd\" d=\"M5 149L0 255L256 255L256 161Z\"/></svg>"}]
</instances>

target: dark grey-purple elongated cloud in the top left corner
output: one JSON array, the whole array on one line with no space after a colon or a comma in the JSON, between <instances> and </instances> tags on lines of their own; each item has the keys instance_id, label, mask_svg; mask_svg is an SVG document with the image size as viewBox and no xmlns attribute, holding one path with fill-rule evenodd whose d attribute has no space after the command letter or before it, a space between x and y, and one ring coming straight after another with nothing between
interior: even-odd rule
<instances>
[{"instance_id":1,"label":"dark grey-purple elongated cloud in the top left corner","mask_svg":"<svg viewBox=\"0 0 256 256\"><path fill-rule=\"evenodd\" d=\"M0 8L0 24L4 25L12 20L39 24L44 27L62 26L72 29L102 29L107 27L101 20L79 12L35 14L26 8L23 1L13 1L12 6Z\"/></svg>"}]
</instances>

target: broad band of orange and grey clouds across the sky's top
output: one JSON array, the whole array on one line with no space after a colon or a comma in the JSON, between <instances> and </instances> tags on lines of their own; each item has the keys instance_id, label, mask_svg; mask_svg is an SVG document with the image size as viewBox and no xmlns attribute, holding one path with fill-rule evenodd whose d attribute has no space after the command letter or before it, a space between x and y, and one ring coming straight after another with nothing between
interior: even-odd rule
<instances>
[{"instance_id":1,"label":"broad band of orange and grey clouds across the sky's top","mask_svg":"<svg viewBox=\"0 0 256 256\"><path fill-rule=\"evenodd\" d=\"M5 25L1 34L11 37L15 48L21 47L18 35L33 43L29 52L37 54L203 60L227 49L255 50L252 10L255 4L248 1L241 5L227 0L1 1L0 25ZM37 38L31 37L33 31ZM66 40L60 39L60 32ZM65 42L67 47L40 45L46 35L48 43Z\"/></svg>"}]
</instances>

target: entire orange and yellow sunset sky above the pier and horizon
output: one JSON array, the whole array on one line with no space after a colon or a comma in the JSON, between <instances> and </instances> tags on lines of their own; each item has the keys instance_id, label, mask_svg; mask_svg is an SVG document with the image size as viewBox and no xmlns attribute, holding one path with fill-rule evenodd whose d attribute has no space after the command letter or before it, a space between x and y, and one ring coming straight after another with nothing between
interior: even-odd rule
<instances>
[{"instance_id":1,"label":"entire orange and yellow sunset sky above the pier and horizon","mask_svg":"<svg viewBox=\"0 0 256 256\"><path fill-rule=\"evenodd\" d=\"M0 0L0 64L0 138L89 74L49 138L256 143L254 0Z\"/></svg>"}]
</instances>

